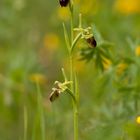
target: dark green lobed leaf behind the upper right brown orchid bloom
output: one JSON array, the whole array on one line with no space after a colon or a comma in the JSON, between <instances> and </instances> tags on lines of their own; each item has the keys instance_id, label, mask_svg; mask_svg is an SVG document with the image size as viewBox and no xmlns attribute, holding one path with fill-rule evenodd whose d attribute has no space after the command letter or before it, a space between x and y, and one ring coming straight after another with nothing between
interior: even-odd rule
<instances>
[{"instance_id":1,"label":"dark green lobed leaf behind the upper right brown orchid bloom","mask_svg":"<svg viewBox=\"0 0 140 140\"><path fill-rule=\"evenodd\" d=\"M96 29L96 28L95 28ZM95 39L97 41L97 48L82 48L80 51L81 59L80 60L86 60L86 62L94 61L95 67L100 70L104 70L104 64L106 63L105 60L112 60L111 57L111 47L112 44L110 42L107 42L102 39L99 31L97 29L95 30Z\"/></svg>"}]
</instances>

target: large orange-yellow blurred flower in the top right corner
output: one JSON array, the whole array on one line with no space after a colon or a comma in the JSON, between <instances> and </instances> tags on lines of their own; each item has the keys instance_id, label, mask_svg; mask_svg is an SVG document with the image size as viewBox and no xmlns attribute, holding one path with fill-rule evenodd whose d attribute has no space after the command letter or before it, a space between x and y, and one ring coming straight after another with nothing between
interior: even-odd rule
<instances>
[{"instance_id":1,"label":"large orange-yellow blurred flower in the top right corner","mask_svg":"<svg viewBox=\"0 0 140 140\"><path fill-rule=\"evenodd\" d=\"M116 11L122 14L140 13L140 1L139 0L116 0L114 4Z\"/></svg>"}]
</instances>

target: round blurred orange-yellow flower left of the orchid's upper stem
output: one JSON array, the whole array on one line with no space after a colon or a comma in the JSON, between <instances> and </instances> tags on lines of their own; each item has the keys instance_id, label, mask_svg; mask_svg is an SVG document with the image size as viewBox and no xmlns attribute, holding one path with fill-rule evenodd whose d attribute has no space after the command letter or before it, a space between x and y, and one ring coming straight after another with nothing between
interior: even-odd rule
<instances>
[{"instance_id":1,"label":"round blurred orange-yellow flower left of the orchid's upper stem","mask_svg":"<svg viewBox=\"0 0 140 140\"><path fill-rule=\"evenodd\" d=\"M59 46L58 36L54 33L46 34L44 37L44 46L51 50L57 49Z\"/></svg>"}]
</instances>

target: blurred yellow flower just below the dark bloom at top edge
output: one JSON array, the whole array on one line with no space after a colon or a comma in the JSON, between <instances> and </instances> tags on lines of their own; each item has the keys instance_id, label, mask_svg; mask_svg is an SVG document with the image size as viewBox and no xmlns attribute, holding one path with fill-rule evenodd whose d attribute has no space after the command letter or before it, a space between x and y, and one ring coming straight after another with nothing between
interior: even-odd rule
<instances>
[{"instance_id":1,"label":"blurred yellow flower just below the dark bloom at top edge","mask_svg":"<svg viewBox=\"0 0 140 140\"><path fill-rule=\"evenodd\" d=\"M68 8L59 7L57 13L58 13L58 17L61 20L67 21L70 18L70 13L69 13L69 9Z\"/></svg>"}]
</instances>

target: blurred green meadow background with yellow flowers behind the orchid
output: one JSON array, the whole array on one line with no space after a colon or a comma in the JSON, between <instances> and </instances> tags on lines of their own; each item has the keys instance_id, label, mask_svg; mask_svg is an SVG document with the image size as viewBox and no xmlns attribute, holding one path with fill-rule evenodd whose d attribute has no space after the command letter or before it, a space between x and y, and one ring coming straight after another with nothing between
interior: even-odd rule
<instances>
[{"instance_id":1,"label":"blurred green meadow background with yellow flowers behind the orchid","mask_svg":"<svg viewBox=\"0 0 140 140\"><path fill-rule=\"evenodd\" d=\"M75 53L80 140L139 140L140 1L74 1L75 27L82 13L83 26L94 24L112 44L111 56L102 60L86 63ZM54 81L63 80L61 68L69 73L62 22L68 28L69 11L58 0L0 0L0 140L23 140L24 108L27 139L41 139L36 80L46 140L73 139L71 99L62 95L53 104L48 99ZM78 52L81 46L87 47L79 44Z\"/></svg>"}]
</instances>

